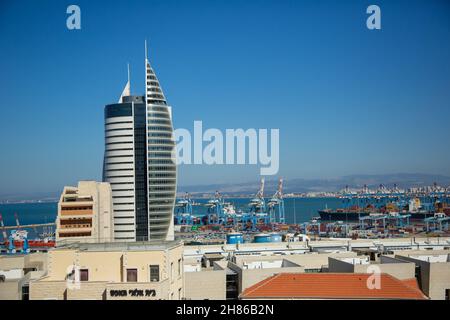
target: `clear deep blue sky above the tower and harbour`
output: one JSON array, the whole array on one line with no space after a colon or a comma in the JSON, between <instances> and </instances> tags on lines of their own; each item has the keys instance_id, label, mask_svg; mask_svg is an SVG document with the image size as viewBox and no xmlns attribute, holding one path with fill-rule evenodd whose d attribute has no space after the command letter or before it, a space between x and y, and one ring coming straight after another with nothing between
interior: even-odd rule
<instances>
[{"instance_id":1,"label":"clear deep blue sky above the tower and harbour","mask_svg":"<svg viewBox=\"0 0 450 320\"><path fill-rule=\"evenodd\" d=\"M81 30L66 8L81 8ZM366 8L381 8L381 30ZM101 179L105 104L144 39L176 128L279 128L280 175L450 174L450 3L0 2L0 194ZM256 180L182 166L179 183Z\"/></svg>"}]
</instances>

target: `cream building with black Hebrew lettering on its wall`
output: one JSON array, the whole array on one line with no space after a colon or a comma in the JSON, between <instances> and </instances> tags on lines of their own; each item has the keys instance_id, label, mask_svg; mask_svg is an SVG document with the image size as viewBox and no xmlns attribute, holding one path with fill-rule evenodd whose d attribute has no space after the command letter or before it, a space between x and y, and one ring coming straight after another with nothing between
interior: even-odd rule
<instances>
[{"instance_id":1,"label":"cream building with black Hebrew lettering on its wall","mask_svg":"<svg viewBox=\"0 0 450 320\"><path fill-rule=\"evenodd\" d=\"M183 299L179 242L68 244L48 252L48 273L30 299Z\"/></svg>"}]
</instances>

